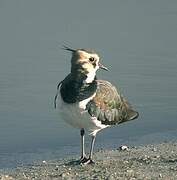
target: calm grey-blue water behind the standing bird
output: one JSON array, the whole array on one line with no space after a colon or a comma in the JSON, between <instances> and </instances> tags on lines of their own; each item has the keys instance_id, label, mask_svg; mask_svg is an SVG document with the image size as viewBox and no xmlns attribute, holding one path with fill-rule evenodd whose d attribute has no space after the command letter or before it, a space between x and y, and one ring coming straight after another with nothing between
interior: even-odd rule
<instances>
[{"instance_id":1,"label":"calm grey-blue water behind the standing bird","mask_svg":"<svg viewBox=\"0 0 177 180\"><path fill-rule=\"evenodd\" d=\"M79 155L79 132L53 108L70 70L62 44L93 48L140 112L96 148L177 138L177 1L0 1L0 167ZM87 146L89 141L87 140Z\"/></svg>"}]
</instances>

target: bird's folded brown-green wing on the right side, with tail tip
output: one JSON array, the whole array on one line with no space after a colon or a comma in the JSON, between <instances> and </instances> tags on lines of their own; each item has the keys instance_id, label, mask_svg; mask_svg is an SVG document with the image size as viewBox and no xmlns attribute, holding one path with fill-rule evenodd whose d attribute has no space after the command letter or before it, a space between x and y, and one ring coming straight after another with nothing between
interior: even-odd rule
<instances>
[{"instance_id":1,"label":"bird's folded brown-green wing on the right side, with tail tip","mask_svg":"<svg viewBox=\"0 0 177 180\"><path fill-rule=\"evenodd\" d=\"M97 80L96 96L87 104L87 110L105 125L119 124L138 117L138 112L131 108L116 88L103 80Z\"/></svg>"}]
</instances>

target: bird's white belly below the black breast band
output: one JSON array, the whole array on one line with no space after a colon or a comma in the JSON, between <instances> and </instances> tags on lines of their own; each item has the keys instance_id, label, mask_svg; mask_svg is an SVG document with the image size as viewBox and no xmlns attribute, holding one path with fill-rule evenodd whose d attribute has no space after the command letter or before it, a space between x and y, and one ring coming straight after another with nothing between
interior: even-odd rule
<instances>
[{"instance_id":1,"label":"bird's white belly below the black breast band","mask_svg":"<svg viewBox=\"0 0 177 180\"><path fill-rule=\"evenodd\" d=\"M60 93L58 93L56 104L62 119L68 124L75 128L84 128L89 131L90 135L95 135L101 129L108 127L108 125L101 124L96 117L91 117L88 111L85 110L86 104L92 98L79 103L68 104L62 100Z\"/></svg>"}]
</instances>

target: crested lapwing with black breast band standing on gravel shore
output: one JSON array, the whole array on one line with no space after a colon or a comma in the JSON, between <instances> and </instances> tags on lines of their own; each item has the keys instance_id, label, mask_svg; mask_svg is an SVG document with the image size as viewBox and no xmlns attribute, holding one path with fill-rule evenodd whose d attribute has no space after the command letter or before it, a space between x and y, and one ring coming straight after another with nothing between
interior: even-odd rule
<instances>
[{"instance_id":1,"label":"crested lapwing with black breast band standing on gravel shore","mask_svg":"<svg viewBox=\"0 0 177 180\"><path fill-rule=\"evenodd\" d=\"M92 49L74 49L71 52L71 71L57 86L54 106L60 117L80 130L80 164L92 164L93 148L97 133L105 128L138 118L120 91L109 81L97 79L99 69L108 71L100 56ZM89 155L85 154L85 133L91 136Z\"/></svg>"}]
</instances>

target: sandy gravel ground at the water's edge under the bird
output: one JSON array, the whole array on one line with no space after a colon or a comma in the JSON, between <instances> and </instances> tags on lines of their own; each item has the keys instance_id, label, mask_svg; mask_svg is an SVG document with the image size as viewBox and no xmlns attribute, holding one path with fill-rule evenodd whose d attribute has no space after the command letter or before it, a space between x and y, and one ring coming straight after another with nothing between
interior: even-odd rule
<instances>
[{"instance_id":1,"label":"sandy gravel ground at the water's edge under the bird","mask_svg":"<svg viewBox=\"0 0 177 180\"><path fill-rule=\"evenodd\" d=\"M95 164L79 165L77 157L0 170L1 180L56 179L177 179L177 142L100 150Z\"/></svg>"}]
</instances>

